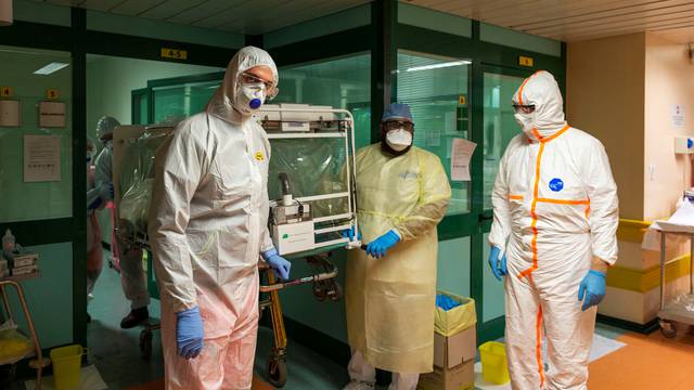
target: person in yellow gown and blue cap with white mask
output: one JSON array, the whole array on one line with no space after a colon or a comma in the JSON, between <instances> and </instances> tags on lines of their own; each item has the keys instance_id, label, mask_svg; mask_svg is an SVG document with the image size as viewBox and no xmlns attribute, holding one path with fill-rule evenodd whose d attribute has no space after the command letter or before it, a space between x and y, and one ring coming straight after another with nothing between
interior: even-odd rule
<instances>
[{"instance_id":1,"label":"person in yellow gown and blue cap with white mask","mask_svg":"<svg viewBox=\"0 0 694 390\"><path fill-rule=\"evenodd\" d=\"M357 154L359 231L368 246L350 250L347 261L346 390L373 389L375 368L394 373L391 390L414 390L420 373L433 369L436 225L451 187L439 158L412 145L413 132L410 107L390 104L382 142Z\"/></svg>"}]
</instances>

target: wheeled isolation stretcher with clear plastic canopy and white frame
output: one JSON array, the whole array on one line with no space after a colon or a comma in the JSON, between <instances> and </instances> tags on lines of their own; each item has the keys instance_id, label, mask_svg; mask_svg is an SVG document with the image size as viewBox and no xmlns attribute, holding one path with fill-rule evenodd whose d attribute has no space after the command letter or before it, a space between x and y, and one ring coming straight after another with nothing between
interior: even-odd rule
<instances>
[{"instance_id":1,"label":"wheeled isolation stretcher with clear plastic canopy and white frame","mask_svg":"<svg viewBox=\"0 0 694 390\"><path fill-rule=\"evenodd\" d=\"M274 217L268 223L273 242L287 260L304 260L313 270L309 275L278 281L259 259L259 309L261 315L266 310L269 312L274 338L267 364L268 378L273 386L283 387L287 380L287 337L280 291L311 284L318 300L338 301L342 287L335 282L338 270L330 261L330 253L360 247L359 242L350 242L340 234L347 229L355 230L355 236L358 234L354 119L343 109L282 105L265 106L257 120L266 129L272 147L268 193L270 213ZM156 151L172 131L170 126L121 126L114 132L116 234L126 247L143 249L147 289L155 299L158 299L158 289L152 270L146 220ZM290 187L292 194L287 194ZM298 217L287 214L292 208L298 210ZM279 221L280 214L282 221ZM286 233L278 236L278 232L294 232L299 224L310 230L310 239L287 245L282 242ZM157 329L159 324L154 318L143 326L140 334L143 359L152 355L153 333Z\"/></svg>"}]
</instances>

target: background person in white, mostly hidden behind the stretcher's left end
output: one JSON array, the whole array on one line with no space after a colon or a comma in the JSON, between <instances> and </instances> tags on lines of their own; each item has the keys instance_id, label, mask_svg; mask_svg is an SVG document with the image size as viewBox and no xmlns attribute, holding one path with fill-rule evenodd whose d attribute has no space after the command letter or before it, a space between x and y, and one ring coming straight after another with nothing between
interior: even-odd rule
<instances>
[{"instance_id":1,"label":"background person in white, mostly hidden behind the stretcher's left end","mask_svg":"<svg viewBox=\"0 0 694 390\"><path fill-rule=\"evenodd\" d=\"M120 126L118 120L110 116L102 117L97 123L97 132L104 143L104 148L97 158L95 191L102 193L104 205L114 200L113 133L118 126ZM113 217L113 209L111 212ZM113 218L112 222L117 223ZM119 259L120 285L123 286L123 292L130 301L130 312L120 321L120 327L129 329L150 318L147 310L150 292L147 291L146 276L142 270L142 249L129 246L120 239L118 234L113 234L111 251L113 257Z\"/></svg>"}]
</instances>

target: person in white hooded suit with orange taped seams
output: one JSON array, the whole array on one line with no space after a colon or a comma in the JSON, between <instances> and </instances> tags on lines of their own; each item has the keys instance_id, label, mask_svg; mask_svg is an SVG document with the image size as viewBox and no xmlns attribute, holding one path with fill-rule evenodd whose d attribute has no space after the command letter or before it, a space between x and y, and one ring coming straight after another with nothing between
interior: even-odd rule
<instances>
[{"instance_id":1,"label":"person in white hooded suit with orange taped seams","mask_svg":"<svg viewBox=\"0 0 694 390\"><path fill-rule=\"evenodd\" d=\"M523 82L513 98L523 133L492 193L489 263L505 275L513 389L587 388L596 304L617 260L617 186L605 148L566 123L562 104L548 72Z\"/></svg>"}]
</instances>

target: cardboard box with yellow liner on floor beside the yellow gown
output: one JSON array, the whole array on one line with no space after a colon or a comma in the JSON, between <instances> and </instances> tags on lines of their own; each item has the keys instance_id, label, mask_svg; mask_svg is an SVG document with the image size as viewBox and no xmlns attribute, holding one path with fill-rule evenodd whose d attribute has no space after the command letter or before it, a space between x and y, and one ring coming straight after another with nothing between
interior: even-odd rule
<instances>
[{"instance_id":1,"label":"cardboard box with yellow liner on floor beside the yellow gown","mask_svg":"<svg viewBox=\"0 0 694 390\"><path fill-rule=\"evenodd\" d=\"M477 355L477 326L475 301L470 298L446 294L461 302L449 311L437 310L437 332L434 334L434 372L420 376L420 390L472 390L475 388L475 356ZM445 318L445 321L439 321ZM457 321L451 321L455 318ZM460 330L461 321L465 322ZM441 323L459 324L441 327ZM471 324L472 323L472 324ZM457 332L446 336L446 329Z\"/></svg>"}]
</instances>

